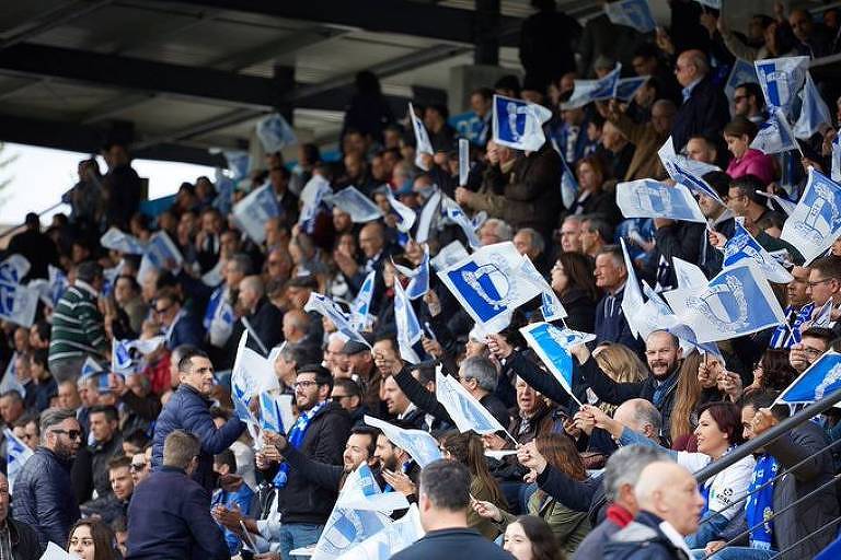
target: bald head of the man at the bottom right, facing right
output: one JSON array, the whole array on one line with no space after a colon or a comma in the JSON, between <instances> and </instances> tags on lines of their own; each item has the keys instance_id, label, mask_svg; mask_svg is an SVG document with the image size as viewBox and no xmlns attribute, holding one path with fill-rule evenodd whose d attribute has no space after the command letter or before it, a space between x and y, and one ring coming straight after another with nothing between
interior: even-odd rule
<instances>
[{"instance_id":1,"label":"bald head of the man at the bottom right, facing right","mask_svg":"<svg viewBox=\"0 0 841 560\"><path fill-rule=\"evenodd\" d=\"M677 463L657 460L645 467L634 495L641 510L668 522L682 536L698 530L704 499L692 474Z\"/></svg>"}]
</instances>

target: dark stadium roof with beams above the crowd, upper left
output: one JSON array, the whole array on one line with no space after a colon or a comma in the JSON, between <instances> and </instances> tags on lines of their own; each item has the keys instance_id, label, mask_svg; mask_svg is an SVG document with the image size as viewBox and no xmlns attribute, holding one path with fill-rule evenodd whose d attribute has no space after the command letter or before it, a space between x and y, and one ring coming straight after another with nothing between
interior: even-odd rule
<instances>
[{"instance_id":1,"label":"dark stadium roof with beams above the crowd, upper left","mask_svg":"<svg viewBox=\"0 0 841 560\"><path fill-rule=\"evenodd\" d=\"M399 110L443 100L449 69L499 38L519 68L528 0L26 0L0 8L0 140L216 163L255 121L291 112L302 140L332 141L354 74L370 69ZM597 2L562 0L586 18ZM498 14L495 12L499 9Z\"/></svg>"}]
</instances>

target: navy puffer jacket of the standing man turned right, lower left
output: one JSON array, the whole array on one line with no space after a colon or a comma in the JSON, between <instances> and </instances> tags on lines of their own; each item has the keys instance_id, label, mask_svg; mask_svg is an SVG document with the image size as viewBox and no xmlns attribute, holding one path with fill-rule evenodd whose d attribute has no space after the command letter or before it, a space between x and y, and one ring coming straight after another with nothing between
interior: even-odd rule
<instances>
[{"instance_id":1,"label":"navy puffer jacket of the standing man turned right, lower left","mask_svg":"<svg viewBox=\"0 0 841 560\"><path fill-rule=\"evenodd\" d=\"M193 480L212 490L216 477L214 476L214 455L222 453L240 436L245 424L239 418L233 417L224 425L217 429L210 418L210 401L198 390L182 383L172 398L163 407L158 422L154 424L154 438L152 444L152 468L163 465L163 442L174 430L184 430L193 433L201 442L201 451L198 454L198 466L193 472Z\"/></svg>"}]
</instances>

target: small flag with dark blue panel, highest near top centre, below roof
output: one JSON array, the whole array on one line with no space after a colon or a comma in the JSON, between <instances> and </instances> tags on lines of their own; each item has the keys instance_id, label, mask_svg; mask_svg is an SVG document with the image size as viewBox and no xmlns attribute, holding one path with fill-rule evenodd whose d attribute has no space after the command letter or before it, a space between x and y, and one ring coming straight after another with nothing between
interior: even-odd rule
<instances>
[{"instance_id":1,"label":"small flag with dark blue panel, highest near top centre, below roof","mask_svg":"<svg viewBox=\"0 0 841 560\"><path fill-rule=\"evenodd\" d=\"M542 105L494 95L494 142L515 150L537 152L546 142L543 124L552 112Z\"/></svg>"}]
</instances>

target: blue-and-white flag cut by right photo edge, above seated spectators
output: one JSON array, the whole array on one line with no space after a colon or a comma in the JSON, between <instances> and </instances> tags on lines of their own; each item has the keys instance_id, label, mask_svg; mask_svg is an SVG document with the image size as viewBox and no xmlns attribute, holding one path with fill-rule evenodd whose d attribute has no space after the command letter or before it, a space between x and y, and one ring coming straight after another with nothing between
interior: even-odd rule
<instances>
[{"instance_id":1,"label":"blue-and-white flag cut by right photo edge, above seated spectators","mask_svg":"<svg viewBox=\"0 0 841 560\"><path fill-rule=\"evenodd\" d=\"M841 185L814 167L800 200L780 236L800 252L808 265L841 236Z\"/></svg>"}]
</instances>

